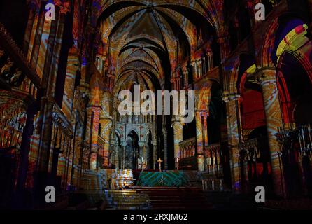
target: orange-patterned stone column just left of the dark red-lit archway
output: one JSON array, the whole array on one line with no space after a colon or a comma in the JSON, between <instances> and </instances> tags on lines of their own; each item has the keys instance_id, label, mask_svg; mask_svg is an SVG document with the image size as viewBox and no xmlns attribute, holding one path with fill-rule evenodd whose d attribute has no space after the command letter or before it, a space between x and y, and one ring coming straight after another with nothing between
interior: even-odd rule
<instances>
[{"instance_id":1,"label":"orange-patterned stone column just left of the dark red-lit archway","mask_svg":"<svg viewBox=\"0 0 312 224\"><path fill-rule=\"evenodd\" d=\"M232 190L241 190L239 172L239 142L241 139L241 123L239 112L239 95L225 94L223 100L227 104L227 137L229 142L229 162L231 167Z\"/></svg>"}]
</instances>

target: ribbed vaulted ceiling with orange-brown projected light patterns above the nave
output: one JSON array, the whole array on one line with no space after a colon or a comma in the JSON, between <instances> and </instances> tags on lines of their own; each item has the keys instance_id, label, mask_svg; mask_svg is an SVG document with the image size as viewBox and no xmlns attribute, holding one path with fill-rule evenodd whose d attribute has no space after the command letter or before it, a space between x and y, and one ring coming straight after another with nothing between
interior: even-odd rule
<instances>
[{"instance_id":1,"label":"ribbed vaulted ceiling with orange-brown projected light patterns above the nave","mask_svg":"<svg viewBox=\"0 0 312 224\"><path fill-rule=\"evenodd\" d=\"M192 8L169 2L173 3L106 3L99 31L109 71L115 75L114 92L134 84L141 89L167 89L178 62L194 59L199 40L213 35L200 1L189 4Z\"/></svg>"}]
</instances>

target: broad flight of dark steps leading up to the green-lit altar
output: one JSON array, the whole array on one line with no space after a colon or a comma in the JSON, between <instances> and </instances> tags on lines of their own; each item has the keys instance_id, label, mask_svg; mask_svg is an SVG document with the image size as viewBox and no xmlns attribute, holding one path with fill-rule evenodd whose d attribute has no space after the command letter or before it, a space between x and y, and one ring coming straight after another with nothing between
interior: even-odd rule
<instances>
[{"instance_id":1,"label":"broad flight of dark steps leading up to the green-lit altar","mask_svg":"<svg viewBox=\"0 0 312 224\"><path fill-rule=\"evenodd\" d=\"M141 188L135 190L106 190L106 209L211 209L200 188Z\"/></svg>"}]
</instances>

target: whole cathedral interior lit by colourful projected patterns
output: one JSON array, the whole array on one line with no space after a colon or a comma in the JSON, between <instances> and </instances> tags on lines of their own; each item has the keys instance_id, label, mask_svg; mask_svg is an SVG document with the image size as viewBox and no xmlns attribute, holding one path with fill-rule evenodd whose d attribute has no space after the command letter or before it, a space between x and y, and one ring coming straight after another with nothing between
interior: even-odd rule
<instances>
[{"instance_id":1,"label":"whole cathedral interior lit by colourful projected patterns","mask_svg":"<svg viewBox=\"0 0 312 224\"><path fill-rule=\"evenodd\" d=\"M0 208L158 188L311 199L311 30L311 0L1 1ZM194 119L121 115L136 86L194 91Z\"/></svg>"}]
</instances>

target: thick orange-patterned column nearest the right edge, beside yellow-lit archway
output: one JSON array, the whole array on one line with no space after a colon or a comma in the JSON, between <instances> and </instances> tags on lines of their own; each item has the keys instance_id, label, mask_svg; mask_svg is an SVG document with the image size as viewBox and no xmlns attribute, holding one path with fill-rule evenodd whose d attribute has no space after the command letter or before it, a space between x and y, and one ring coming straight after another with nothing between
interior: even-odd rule
<instances>
[{"instance_id":1,"label":"thick orange-patterned column nearest the right edge, beside yellow-lit archway","mask_svg":"<svg viewBox=\"0 0 312 224\"><path fill-rule=\"evenodd\" d=\"M285 196L285 182L283 179L283 167L280 166L280 146L275 134L278 127L282 127L281 106L276 84L276 70L261 69L257 71L257 80L262 86L264 111L267 118L267 132L271 154L271 170L274 182L274 192L278 196Z\"/></svg>"}]
</instances>

